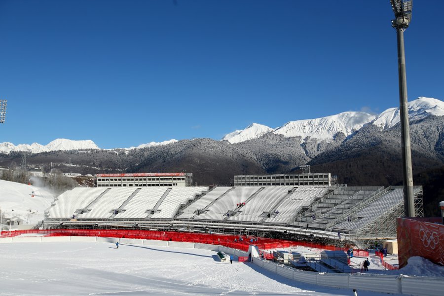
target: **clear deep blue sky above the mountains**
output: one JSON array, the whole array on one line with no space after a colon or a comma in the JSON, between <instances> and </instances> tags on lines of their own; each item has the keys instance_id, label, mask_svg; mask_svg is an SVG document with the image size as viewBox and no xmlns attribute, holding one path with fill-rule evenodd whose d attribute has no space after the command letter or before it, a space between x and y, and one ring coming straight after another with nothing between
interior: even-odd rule
<instances>
[{"instance_id":1,"label":"clear deep blue sky above the mountains","mask_svg":"<svg viewBox=\"0 0 444 296\"><path fill-rule=\"evenodd\" d=\"M442 0L414 0L408 99L444 100ZM399 106L389 0L0 1L0 143L100 148Z\"/></svg>"}]
</instances>

